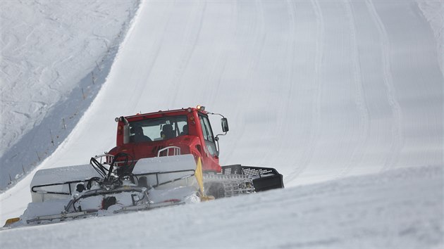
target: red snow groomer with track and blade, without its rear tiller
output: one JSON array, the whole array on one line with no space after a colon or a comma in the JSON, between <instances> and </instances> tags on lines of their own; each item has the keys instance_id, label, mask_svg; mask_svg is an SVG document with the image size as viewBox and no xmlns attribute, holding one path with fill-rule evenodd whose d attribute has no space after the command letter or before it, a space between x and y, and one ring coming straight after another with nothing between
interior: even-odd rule
<instances>
[{"instance_id":1,"label":"red snow groomer with track and blade, without its rear tiller","mask_svg":"<svg viewBox=\"0 0 444 249\"><path fill-rule=\"evenodd\" d=\"M273 168L219 164L219 136L228 132L228 120L220 115L224 134L214 136L204 106L116 117L117 161L191 154L202 160L206 194L216 198L253 191L283 188L283 176ZM123 155L123 156L122 156ZM168 171L168 167L164 167ZM242 180L240 180L242 179ZM239 188L238 186L249 186Z\"/></svg>"}]
</instances>

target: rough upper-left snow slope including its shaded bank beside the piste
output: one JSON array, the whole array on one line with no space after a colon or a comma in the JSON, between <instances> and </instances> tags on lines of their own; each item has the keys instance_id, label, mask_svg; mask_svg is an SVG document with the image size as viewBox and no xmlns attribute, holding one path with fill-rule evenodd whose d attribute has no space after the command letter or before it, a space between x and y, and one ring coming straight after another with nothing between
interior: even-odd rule
<instances>
[{"instance_id":1,"label":"rough upper-left snow slope including its shaded bank beside the piste","mask_svg":"<svg viewBox=\"0 0 444 249\"><path fill-rule=\"evenodd\" d=\"M51 155L109 74L137 1L1 1L0 191Z\"/></svg>"}]
</instances>

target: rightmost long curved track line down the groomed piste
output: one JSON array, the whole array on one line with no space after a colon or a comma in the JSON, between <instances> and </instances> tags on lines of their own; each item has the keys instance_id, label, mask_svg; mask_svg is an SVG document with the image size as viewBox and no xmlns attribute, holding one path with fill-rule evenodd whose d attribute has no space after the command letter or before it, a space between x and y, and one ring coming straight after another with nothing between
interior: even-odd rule
<instances>
[{"instance_id":1,"label":"rightmost long curved track line down the groomed piste","mask_svg":"<svg viewBox=\"0 0 444 249\"><path fill-rule=\"evenodd\" d=\"M369 9L371 17L378 27L378 32L380 36L381 43L381 53L382 53L382 70L383 70L383 81L386 86L387 98L390 108L393 113L394 122L392 122L392 143L390 146L390 151L388 151L388 156L386 157L386 162L384 163L381 170L388 170L395 166L397 160L400 157L400 151L403 145L403 135L402 135L402 111L400 104L397 102L395 96L395 87L393 85L393 76L390 68L390 41L388 39L388 34L383 21L378 15L376 8L372 1L366 0L366 6Z\"/></svg>"}]
</instances>

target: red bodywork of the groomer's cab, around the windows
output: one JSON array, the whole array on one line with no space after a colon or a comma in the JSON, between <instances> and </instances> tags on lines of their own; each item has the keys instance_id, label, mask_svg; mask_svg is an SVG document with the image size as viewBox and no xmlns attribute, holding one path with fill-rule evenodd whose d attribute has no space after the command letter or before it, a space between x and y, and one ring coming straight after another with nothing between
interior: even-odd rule
<instances>
[{"instance_id":1,"label":"red bodywork of the groomer's cab, around the windows","mask_svg":"<svg viewBox=\"0 0 444 249\"><path fill-rule=\"evenodd\" d=\"M118 120L116 147L112 148L109 153L116 155L117 153L128 153L135 160L140 158L154 158L158 151L168 146L178 146L181 154L192 154L195 159L202 158L202 169L204 171L221 172L218 155L209 153L207 148L208 141L205 141L202 132L202 125L199 121L199 115L206 117L206 112L197 110L196 108L187 108L181 110L159 111L157 113L145 113L140 115L128 116ZM176 137L161 139L157 141L130 141L128 138L130 132L129 124L144 122L144 120L159 119L162 117L184 117L186 116L188 132L187 134L178 135ZM128 121L128 123L126 123ZM126 124L125 124L126 123ZM126 127L125 127L126 126ZM176 125L176 129L178 129ZM211 129L211 128L210 128ZM160 131L159 131L160 132ZM126 137L125 137L126 136ZM212 134L211 134L212 136ZM214 140L214 137L212 137ZM216 147L214 147L216 148ZM162 154L160 155L162 156Z\"/></svg>"}]
</instances>

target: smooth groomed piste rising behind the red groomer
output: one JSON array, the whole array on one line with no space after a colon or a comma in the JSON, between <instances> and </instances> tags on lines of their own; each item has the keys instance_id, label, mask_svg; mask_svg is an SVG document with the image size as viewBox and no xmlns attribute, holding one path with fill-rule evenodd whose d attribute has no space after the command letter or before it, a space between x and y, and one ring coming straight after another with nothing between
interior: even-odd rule
<instances>
[{"instance_id":1,"label":"smooth groomed piste rising behind the red groomer","mask_svg":"<svg viewBox=\"0 0 444 249\"><path fill-rule=\"evenodd\" d=\"M109 150L114 117L197 103L230 120L223 163L288 181L442 165L436 42L414 1L148 1L82 125L42 167Z\"/></svg>"}]
</instances>

